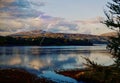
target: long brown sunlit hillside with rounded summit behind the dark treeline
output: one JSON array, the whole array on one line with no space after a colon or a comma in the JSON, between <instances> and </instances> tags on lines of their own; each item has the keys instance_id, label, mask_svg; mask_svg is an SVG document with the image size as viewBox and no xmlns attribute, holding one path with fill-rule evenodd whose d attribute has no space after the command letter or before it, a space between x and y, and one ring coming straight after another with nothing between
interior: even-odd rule
<instances>
[{"instance_id":1,"label":"long brown sunlit hillside with rounded summit behind the dark treeline","mask_svg":"<svg viewBox=\"0 0 120 83\"><path fill-rule=\"evenodd\" d=\"M91 38L99 38L97 35L88 35L88 34L68 34L68 33L52 33L46 32L42 30L34 30L27 32L19 32L16 34L9 35L12 37L23 37L23 38L35 38L35 37L49 37L49 38L69 38L69 39L91 39Z\"/></svg>"}]
</instances>

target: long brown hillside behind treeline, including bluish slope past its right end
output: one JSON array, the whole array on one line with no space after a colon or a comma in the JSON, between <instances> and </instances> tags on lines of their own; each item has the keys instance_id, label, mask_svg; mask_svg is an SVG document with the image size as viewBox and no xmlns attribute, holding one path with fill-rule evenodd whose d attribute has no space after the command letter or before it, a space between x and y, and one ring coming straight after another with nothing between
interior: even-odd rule
<instances>
[{"instance_id":1,"label":"long brown hillside behind treeline, including bluish slope past its right end","mask_svg":"<svg viewBox=\"0 0 120 83\"><path fill-rule=\"evenodd\" d=\"M70 40L84 40L87 39L95 44L98 43L107 43L107 37L97 36L97 35L88 35L88 34L68 34L68 33L52 33L46 32L42 30L34 30L27 32L19 32L16 34L9 35L12 37L21 37L21 38L37 38L37 37L45 37L45 38L64 38Z\"/></svg>"}]
</instances>

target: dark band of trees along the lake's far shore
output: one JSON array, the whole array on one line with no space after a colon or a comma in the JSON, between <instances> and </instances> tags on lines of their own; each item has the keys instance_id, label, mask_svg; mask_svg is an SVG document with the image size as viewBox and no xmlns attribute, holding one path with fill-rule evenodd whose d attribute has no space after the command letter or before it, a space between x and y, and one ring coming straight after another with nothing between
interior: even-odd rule
<instances>
[{"instance_id":1,"label":"dark band of trees along the lake's far shore","mask_svg":"<svg viewBox=\"0 0 120 83\"><path fill-rule=\"evenodd\" d=\"M89 40L70 40L65 38L21 38L0 36L0 46L62 46L62 45L93 45Z\"/></svg>"}]
</instances>

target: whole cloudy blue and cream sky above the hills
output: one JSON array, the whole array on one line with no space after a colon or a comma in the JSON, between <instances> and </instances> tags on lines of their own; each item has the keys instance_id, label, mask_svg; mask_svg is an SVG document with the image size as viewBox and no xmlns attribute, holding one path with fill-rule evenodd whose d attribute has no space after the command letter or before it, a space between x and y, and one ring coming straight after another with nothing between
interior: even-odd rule
<instances>
[{"instance_id":1,"label":"whole cloudy blue and cream sky above the hills","mask_svg":"<svg viewBox=\"0 0 120 83\"><path fill-rule=\"evenodd\" d=\"M44 30L100 35L110 0L0 0L0 35Z\"/></svg>"}]
</instances>

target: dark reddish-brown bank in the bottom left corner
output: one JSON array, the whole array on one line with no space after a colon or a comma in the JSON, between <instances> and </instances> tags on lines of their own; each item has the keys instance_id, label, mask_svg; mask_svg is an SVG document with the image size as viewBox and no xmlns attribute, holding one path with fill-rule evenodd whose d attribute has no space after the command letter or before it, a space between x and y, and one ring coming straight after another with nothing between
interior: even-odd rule
<instances>
[{"instance_id":1,"label":"dark reddish-brown bank in the bottom left corner","mask_svg":"<svg viewBox=\"0 0 120 83\"><path fill-rule=\"evenodd\" d=\"M0 83L54 83L23 69L0 69Z\"/></svg>"}]
</instances>

